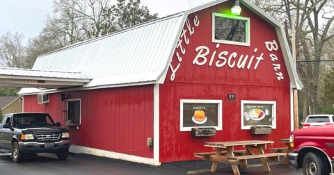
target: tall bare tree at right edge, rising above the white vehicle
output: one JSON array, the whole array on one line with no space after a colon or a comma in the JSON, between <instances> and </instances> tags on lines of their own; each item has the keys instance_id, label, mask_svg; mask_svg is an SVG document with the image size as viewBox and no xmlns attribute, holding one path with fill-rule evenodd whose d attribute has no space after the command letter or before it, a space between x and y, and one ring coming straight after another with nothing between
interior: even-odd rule
<instances>
[{"instance_id":1,"label":"tall bare tree at right edge, rising above the white vehicle","mask_svg":"<svg viewBox=\"0 0 334 175\"><path fill-rule=\"evenodd\" d=\"M329 33L333 23L333 1L307 1L308 3L301 4L303 14L305 14L305 23L308 25L305 28L304 40L301 40L303 58L306 61L313 60L313 64L307 64L304 69L301 69L303 74L310 74L309 81L305 84L308 90L308 99L310 103L310 112L317 113L318 107L318 84L320 73L320 60L324 53L324 44L334 37ZM324 24L321 24L324 22ZM309 47L310 46L310 47ZM308 49L312 48L312 49Z\"/></svg>"}]
</instances>

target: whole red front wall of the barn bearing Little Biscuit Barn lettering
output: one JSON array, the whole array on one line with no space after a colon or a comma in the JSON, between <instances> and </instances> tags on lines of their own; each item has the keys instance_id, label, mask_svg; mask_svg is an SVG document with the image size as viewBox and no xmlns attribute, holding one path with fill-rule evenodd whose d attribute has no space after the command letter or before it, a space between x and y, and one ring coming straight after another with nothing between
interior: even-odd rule
<instances>
[{"instance_id":1,"label":"whole red front wall of the barn bearing Little Biscuit Barn lettering","mask_svg":"<svg viewBox=\"0 0 334 175\"><path fill-rule=\"evenodd\" d=\"M265 42L278 43L276 29L263 19L257 17L245 7L241 6L242 17L250 18L250 47L232 44L212 43L212 12L228 10L232 3L226 2L212 8L207 8L189 16L189 22L194 33L186 38L189 44L182 39L181 48L175 49L175 54L168 70L166 82L160 86L160 161L171 162L175 160L192 160L194 152L212 151L203 146L204 142L227 140L274 140L287 138L290 131L290 86L289 76L285 67L283 53L278 47L277 51L269 51ZM199 25L195 26L194 18L198 17ZM279 44L279 43L278 43ZM194 65L193 60L198 52L196 48L205 46L209 48L205 65ZM256 50L256 51L255 51ZM228 51L236 52L234 60L236 65L216 67L209 65L212 54L216 52L213 63L218 60L218 53ZM177 53L182 59L177 58ZM257 69L254 69L256 58L262 55ZM254 56L250 69L237 68L237 61L241 55ZM276 56L278 60L271 60ZM226 56L228 58L228 56ZM249 60L248 60L249 61ZM273 69L274 65L280 69ZM172 70L177 69L173 79ZM276 73L281 72L284 79L278 80ZM227 94L236 94L236 99L227 99ZM218 99L223 101L223 130L217 131L214 137L194 138L189 131L180 131L180 99ZM276 129L269 135L252 135L250 130L241 130L241 100L276 101ZM276 146L280 143L276 143Z\"/></svg>"}]
</instances>

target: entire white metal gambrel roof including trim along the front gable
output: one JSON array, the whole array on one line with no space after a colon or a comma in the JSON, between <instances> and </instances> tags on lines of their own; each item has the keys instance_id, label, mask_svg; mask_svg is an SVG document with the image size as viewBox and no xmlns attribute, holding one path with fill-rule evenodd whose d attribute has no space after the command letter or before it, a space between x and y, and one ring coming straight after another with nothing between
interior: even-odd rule
<instances>
[{"instance_id":1,"label":"entire white metal gambrel roof including trim along the front gable","mask_svg":"<svg viewBox=\"0 0 334 175\"><path fill-rule=\"evenodd\" d=\"M40 92L39 89L31 88L49 88L50 86L47 86L45 82L53 83L54 89L78 86L83 89L111 88L163 83L188 15L225 1L227 0L212 1L191 10L38 56L33 71L29 72L32 74L35 72L34 75L25 76L27 70L24 69L12 69L11 71L17 70L19 73L15 77L20 76L22 81L41 78L44 85L38 86L38 83L27 85L27 88L23 88L19 93ZM276 28L290 84L292 88L303 88L292 61L283 26L250 1L240 0L240 3ZM0 85L8 81L8 79L1 78L1 76L8 75L6 71L3 68L0 69ZM52 75L50 77L39 75L41 72L49 72ZM49 78L52 78L53 81L49 81ZM72 81L76 83L69 83ZM16 83L22 85L22 83ZM57 85L57 83L62 85Z\"/></svg>"}]
</instances>

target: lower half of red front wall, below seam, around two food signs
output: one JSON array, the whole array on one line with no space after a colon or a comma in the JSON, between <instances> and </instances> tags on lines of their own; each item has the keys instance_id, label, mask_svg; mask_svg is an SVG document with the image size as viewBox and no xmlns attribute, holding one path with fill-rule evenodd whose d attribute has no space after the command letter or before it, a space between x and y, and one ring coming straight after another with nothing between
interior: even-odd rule
<instances>
[{"instance_id":1,"label":"lower half of red front wall, below seam, around two food signs","mask_svg":"<svg viewBox=\"0 0 334 175\"><path fill-rule=\"evenodd\" d=\"M237 99L227 99L228 93ZM160 161L194 159L193 153L212 151L204 142L231 140L274 140L289 136L289 92L286 88L237 85L164 83L160 88ZM194 138L180 131L180 99L220 99L223 101L223 130L209 138ZM277 127L269 135L252 135L241 130L241 100L276 101ZM284 145L280 145L284 146Z\"/></svg>"}]
</instances>

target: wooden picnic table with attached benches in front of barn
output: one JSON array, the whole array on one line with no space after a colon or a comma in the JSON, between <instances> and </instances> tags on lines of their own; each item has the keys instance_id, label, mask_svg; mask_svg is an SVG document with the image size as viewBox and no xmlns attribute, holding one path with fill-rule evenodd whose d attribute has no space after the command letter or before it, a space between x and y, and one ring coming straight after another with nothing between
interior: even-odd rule
<instances>
[{"instance_id":1,"label":"wooden picnic table with attached benches in front of barn","mask_svg":"<svg viewBox=\"0 0 334 175\"><path fill-rule=\"evenodd\" d=\"M205 147L212 147L214 153L195 153L195 156L201 157L204 160L212 161L212 167L210 172L216 172L218 163L230 163L234 174L240 174L238 165L245 168L248 159L260 158L264 172L270 172L270 167L267 162L267 158L277 158L279 156L286 156L285 153L264 153L264 149L267 149L267 144L273 144L270 140L243 140L243 141L230 141L230 142L205 142ZM237 155L237 151L234 151L235 147L245 147L243 155ZM254 151L255 149L256 151Z\"/></svg>"}]
</instances>

